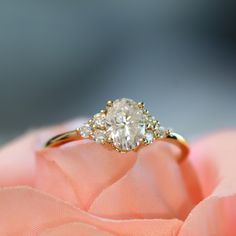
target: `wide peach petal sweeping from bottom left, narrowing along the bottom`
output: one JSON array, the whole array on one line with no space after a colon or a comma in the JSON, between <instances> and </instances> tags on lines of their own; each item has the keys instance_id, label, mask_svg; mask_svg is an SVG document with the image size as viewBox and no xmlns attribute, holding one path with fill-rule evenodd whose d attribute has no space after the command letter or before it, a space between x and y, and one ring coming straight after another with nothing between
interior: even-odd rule
<instances>
[{"instance_id":1,"label":"wide peach petal sweeping from bottom left, narrowing along the bottom","mask_svg":"<svg viewBox=\"0 0 236 236\"><path fill-rule=\"evenodd\" d=\"M127 236L177 235L182 225L176 219L102 219L29 187L0 190L0 235L36 236L46 229L75 221L94 225L115 235Z\"/></svg>"}]
</instances>

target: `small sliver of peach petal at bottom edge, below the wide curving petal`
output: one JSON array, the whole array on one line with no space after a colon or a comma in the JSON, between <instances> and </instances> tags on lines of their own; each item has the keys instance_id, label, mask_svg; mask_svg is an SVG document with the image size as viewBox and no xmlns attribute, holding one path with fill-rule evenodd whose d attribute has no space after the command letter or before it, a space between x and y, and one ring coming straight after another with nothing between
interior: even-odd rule
<instances>
[{"instance_id":1,"label":"small sliver of peach petal at bottom edge, below the wide curving petal","mask_svg":"<svg viewBox=\"0 0 236 236\"><path fill-rule=\"evenodd\" d=\"M72 222L60 225L40 233L39 236L112 236L111 233L105 232L96 228L95 226Z\"/></svg>"}]
</instances>

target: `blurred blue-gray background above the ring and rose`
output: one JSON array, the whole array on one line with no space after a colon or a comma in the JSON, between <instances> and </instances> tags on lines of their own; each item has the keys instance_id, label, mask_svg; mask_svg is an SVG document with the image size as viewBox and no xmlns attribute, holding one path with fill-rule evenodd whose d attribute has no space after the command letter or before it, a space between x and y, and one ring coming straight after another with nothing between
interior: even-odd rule
<instances>
[{"instance_id":1,"label":"blurred blue-gray background above the ring and rose","mask_svg":"<svg viewBox=\"0 0 236 236\"><path fill-rule=\"evenodd\" d=\"M195 138L236 125L233 1L0 1L0 144L145 101Z\"/></svg>"}]
</instances>

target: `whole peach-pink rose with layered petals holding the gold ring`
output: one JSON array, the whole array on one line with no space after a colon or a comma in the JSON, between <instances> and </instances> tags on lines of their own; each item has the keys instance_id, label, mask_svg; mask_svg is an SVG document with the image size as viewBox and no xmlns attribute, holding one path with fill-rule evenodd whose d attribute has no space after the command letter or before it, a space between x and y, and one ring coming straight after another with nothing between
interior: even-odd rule
<instances>
[{"instance_id":1,"label":"whole peach-pink rose with layered petals holding the gold ring","mask_svg":"<svg viewBox=\"0 0 236 236\"><path fill-rule=\"evenodd\" d=\"M236 131L193 143L185 162L155 143L119 154L93 141L42 149L65 124L0 150L0 235L236 235Z\"/></svg>"}]
</instances>

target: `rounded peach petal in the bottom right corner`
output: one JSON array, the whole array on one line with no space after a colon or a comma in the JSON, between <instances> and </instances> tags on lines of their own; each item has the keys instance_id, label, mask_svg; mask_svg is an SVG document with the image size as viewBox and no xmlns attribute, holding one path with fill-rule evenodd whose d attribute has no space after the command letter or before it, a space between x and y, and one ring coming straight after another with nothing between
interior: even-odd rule
<instances>
[{"instance_id":1,"label":"rounded peach petal in the bottom right corner","mask_svg":"<svg viewBox=\"0 0 236 236\"><path fill-rule=\"evenodd\" d=\"M235 233L236 195L204 200L188 216L179 236L234 236Z\"/></svg>"}]
</instances>

